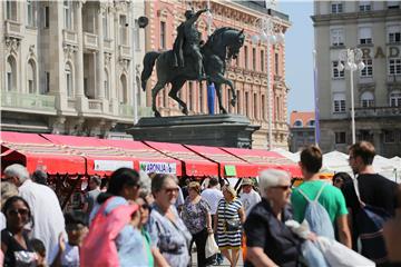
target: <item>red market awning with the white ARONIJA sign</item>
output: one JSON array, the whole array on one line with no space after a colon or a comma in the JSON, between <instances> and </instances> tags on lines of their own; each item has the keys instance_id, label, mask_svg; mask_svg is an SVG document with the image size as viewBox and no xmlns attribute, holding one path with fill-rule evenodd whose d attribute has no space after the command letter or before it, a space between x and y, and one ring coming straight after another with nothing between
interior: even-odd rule
<instances>
[{"instance_id":1,"label":"red market awning with the white ARONIJA sign","mask_svg":"<svg viewBox=\"0 0 401 267\"><path fill-rule=\"evenodd\" d=\"M101 139L109 147L117 148L127 157L135 158L135 169L146 172L164 172L182 176L182 162L150 148L140 141Z\"/></svg>"}]
</instances>

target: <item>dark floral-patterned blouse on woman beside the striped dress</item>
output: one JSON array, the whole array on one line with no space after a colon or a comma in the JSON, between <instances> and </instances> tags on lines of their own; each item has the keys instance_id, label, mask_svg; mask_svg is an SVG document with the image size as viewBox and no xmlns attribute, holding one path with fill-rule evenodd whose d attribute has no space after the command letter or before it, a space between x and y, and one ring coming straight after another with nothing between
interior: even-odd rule
<instances>
[{"instance_id":1,"label":"dark floral-patterned blouse on woman beside the striped dress","mask_svg":"<svg viewBox=\"0 0 401 267\"><path fill-rule=\"evenodd\" d=\"M206 200L200 198L197 204L192 204L189 197L185 199L182 218L190 234L195 235L206 228L207 214L211 214L211 207Z\"/></svg>"}]
</instances>

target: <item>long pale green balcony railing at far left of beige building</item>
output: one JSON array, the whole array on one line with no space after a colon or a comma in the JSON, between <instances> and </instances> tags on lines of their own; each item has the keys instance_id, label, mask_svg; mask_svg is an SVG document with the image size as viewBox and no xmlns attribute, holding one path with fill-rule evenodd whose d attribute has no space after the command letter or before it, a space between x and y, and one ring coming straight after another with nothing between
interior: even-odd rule
<instances>
[{"instance_id":1,"label":"long pale green balcony railing at far left of beige building","mask_svg":"<svg viewBox=\"0 0 401 267\"><path fill-rule=\"evenodd\" d=\"M29 110L56 111L55 96L30 95L21 92L1 91L2 109L17 108Z\"/></svg>"}]
</instances>

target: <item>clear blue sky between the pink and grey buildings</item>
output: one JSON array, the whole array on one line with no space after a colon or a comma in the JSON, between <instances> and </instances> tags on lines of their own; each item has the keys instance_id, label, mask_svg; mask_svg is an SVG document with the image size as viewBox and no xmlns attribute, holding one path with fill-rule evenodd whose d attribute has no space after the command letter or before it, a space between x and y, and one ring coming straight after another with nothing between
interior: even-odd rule
<instances>
[{"instance_id":1,"label":"clear blue sky between the pink and grey buildings","mask_svg":"<svg viewBox=\"0 0 401 267\"><path fill-rule=\"evenodd\" d=\"M290 87L288 113L314 111L314 33L311 16L313 1L277 1L277 10L290 16L292 27L285 33L285 78Z\"/></svg>"}]
</instances>

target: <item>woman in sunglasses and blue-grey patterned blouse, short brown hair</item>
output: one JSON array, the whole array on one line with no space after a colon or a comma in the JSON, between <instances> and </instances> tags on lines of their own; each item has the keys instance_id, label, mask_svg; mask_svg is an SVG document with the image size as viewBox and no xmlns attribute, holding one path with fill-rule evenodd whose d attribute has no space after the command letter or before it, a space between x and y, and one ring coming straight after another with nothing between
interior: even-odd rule
<instances>
[{"instance_id":1,"label":"woman in sunglasses and blue-grey patterned blouse, short brown hair","mask_svg":"<svg viewBox=\"0 0 401 267\"><path fill-rule=\"evenodd\" d=\"M188 246L192 236L174 206L178 196L176 178L155 175L151 179L151 194L155 197L149 218L151 244L158 248L168 265L186 267L189 264Z\"/></svg>"}]
</instances>

